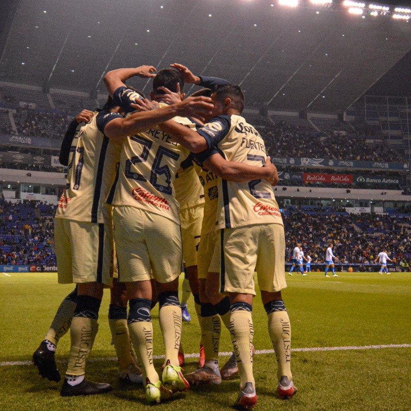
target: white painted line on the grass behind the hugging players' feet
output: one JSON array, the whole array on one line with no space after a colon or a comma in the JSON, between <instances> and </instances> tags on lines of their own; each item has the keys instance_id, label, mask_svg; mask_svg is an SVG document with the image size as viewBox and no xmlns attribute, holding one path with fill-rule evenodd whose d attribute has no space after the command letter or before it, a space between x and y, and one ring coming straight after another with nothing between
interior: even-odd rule
<instances>
[{"instance_id":1,"label":"white painted line on the grass behind the hugging players' feet","mask_svg":"<svg viewBox=\"0 0 411 411\"><path fill-rule=\"evenodd\" d=\"M315 352L315 351L349 351L349 350L377 350L383 348L411 348L411 344L387 344L387 345L360 345L360 346L346 346L346 347L308 347L308 348L292 348L292 352ZM255 350L254 354L273 354L274 350ZM229 357L232 352L220 352L220 357ZM153 356L156 360L161 360L164 356ZM184 354L184 358L198 358L198 352L191 354ZM101 362L101 361L117 361L117 357L107 357L107 358L91 358L90 362ZM66 361L58 361L59 363L64 363ZM31 361L3 361L0 362L0 367L5 367L7 365L31 365Z\"/></svg>"}]
</instances>

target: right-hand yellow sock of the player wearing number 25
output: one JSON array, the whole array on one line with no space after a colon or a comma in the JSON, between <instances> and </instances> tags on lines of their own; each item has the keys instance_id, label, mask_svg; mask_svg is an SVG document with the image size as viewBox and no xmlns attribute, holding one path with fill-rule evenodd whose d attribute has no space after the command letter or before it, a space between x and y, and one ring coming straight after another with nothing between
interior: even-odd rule
<instances>
[{"instance_id":1,"label":"right-hand yellow sock of the player wearing number 25","mask_svg":"<svg viewBox=\"0 0 411 411\"><path fill-rule=\"evenodd\" d=\"M160 328L165 346L165 361L178 367L178 349L181 342L181 307L163 305L159 310Z\"/></svg>"}]
</instances>

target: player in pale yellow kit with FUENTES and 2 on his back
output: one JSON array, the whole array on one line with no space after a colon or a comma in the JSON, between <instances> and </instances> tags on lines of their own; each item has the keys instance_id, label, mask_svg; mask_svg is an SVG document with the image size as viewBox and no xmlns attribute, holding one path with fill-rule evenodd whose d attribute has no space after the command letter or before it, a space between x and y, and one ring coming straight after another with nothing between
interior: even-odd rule
<instances>
[{"instance_id":1,"label":"player in pale yellow kit with FUENTES and 2 on his back","mask_svg":"<svg viewBox=\"0 0 411 411\"><path fill-rule=\"evenodd\" d=\"M264 165L267 159L264 141L240 117L244 109L241 89L235 85L221 86L212 99L213 118L198 133L175 124L166 127L167 131L176 140L187 141L192 151L206 150L197 155L206 167L220 155L231 161ZM251 352L254 271L276 353L277 391L281 397L290 398L296 387L290 369L291 327L281 296L281 290L286 287L284 225L271 186L262 179L219 180L216 229L221 250L220 291L230 296L231 338L240 368L240 392L235 405L249 408L257 403Z\"/></svg>"}]
</instances>

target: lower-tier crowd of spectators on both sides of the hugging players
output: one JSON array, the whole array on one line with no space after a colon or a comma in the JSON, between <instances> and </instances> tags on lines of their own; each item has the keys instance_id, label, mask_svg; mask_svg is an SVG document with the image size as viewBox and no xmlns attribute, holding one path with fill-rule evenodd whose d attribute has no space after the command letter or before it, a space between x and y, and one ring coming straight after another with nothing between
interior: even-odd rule
<instances>
[{"instance_id":1,"label":"lower-tier crowd of spectators on both sides of the hugging players","mask_svg":"<svg viewBox=\"0 0 411 411\"><path fill-rule=\"evenodd\" d=\"M54 212L51 204L0 200L0 264L55 264ZM307 214L290 208L283 217L286 261L290 261L296 242L301 242L314 265L324 264L330 240L334 254L344 264L372 264L384 249L398 265L411 260L411 215L348 214L330 208Z\"/></svg>"}]
</instances>

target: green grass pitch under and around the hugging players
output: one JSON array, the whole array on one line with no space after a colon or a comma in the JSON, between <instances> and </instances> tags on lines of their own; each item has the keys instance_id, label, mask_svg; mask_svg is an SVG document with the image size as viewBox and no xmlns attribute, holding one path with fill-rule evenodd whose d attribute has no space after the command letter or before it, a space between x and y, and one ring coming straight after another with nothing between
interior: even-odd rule
<instances>
[{"instance_id":1,"label":"green grass pitch under and around the hugging players","mask_svg":"<svg viewBox=\"0 0 411 411\"><path fill-rule=\"evenodd\" d=\"M306 277L287 276L283 291L292 328L292 371L298 393L288 401L278 399L276 364L272 353L257 354L254 375L257 410L290 411L409 411L411 409L411 273L391 275L323 273ZM112 358L108 327L108 291L100 309L100 328L87 366L87 378L109 382L110 394L63 398L59 384L43 380L29 365L33 351L42 341L62 298L72 286L57 284L56 274L0 273L0 410L99 410L127 411L151 408L144 404L141 387L120 383ZM158 307L158 306L157 306ZM186 353L198 352L199 327L191 298L190 323L183 323ZM163 353L158 326L158 308L153 310L155 354ZM257 296L253 307L256 350L271 350L267 316ZM379 346L366 348L365 346ZM405 345L384 348L384 345ZM407 346L408 345L408 346ZM331 347L328 351L315 348ZM333 348L332 348L333 347ZM340 347L340 348L338 348ZM347 347L351 347L347 349ZM354 349L357 347L356 349ZM359 348L360 347L360 348ZM363 347L363 348L361 348ZM222 331L220 351L230 351L227 330ZM305 350L307 349L307 350ZM69 352L69 335L59 343L56 355L62 376ZM227 357L221 358L221 365ZM23 362L22 365L6 365ZM191 372L196 358L187 358ZM158 368L161 360L156 360ZM158 409L202 411L231 409L238 379L219 386L194 387L176 395L176 400Z\"/></svg>"}]
</instances>

